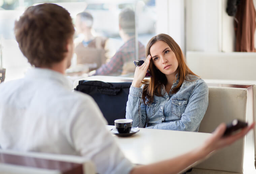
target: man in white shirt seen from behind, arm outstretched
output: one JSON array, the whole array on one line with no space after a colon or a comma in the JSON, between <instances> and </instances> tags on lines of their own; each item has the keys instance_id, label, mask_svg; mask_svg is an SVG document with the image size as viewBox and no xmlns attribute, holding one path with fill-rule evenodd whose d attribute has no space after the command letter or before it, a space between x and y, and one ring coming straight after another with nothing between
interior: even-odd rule
<instances>
[{"instance_id":1,"label":"man in white shirt seen from behind, arm outstretched","mask_svg":"<svg viewBox=\"0 0 256 174\"><path fill-rule=\"evenodd\" d=\"M68 11L51 3L31 6L15 22L14 32L22 53L35 68L23 79L0 84L2 149L85 156L100 174L178 173L254 127L222 138L226 125L221 124L191 152L135 166L105 127L106 120L93 99L70 90L64 76L73 54L74 28ZM143 65L139 68L148 66L149 60Z\"/></svg>"}]
</instances>

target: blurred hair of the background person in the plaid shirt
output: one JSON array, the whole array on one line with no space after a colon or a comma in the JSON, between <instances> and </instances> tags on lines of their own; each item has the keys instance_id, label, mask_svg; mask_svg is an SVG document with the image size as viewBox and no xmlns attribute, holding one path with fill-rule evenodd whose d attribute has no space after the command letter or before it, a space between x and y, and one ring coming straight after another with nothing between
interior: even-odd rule
<instances>
[{"instance_id":1,"label":"blurred hair of the background person in the plaid shirt","mask_svg":"<svg viewBox=\"0 0 256 174\"><path fill-rule=\"evenodd\" d=\"M126 8L119 14L119 26L128 35L134 35L135 33L135 14L134 11Z\"/></svg>"}]
</instances>

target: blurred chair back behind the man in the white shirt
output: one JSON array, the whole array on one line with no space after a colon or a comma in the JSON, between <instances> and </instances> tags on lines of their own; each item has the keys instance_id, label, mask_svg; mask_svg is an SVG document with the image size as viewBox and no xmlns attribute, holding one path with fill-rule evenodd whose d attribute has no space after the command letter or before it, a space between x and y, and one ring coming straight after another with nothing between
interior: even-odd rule
<instances>
[{"instance_id":1,"label":"blurred chair back behind the man in the white shirt","mask_svg":"<svg viewBox=\"0 0 256 174\"><path fill-rule=\"evenodd\" d=\"M82 156L0 150L0 174L95 174Z\"/></svg>"}]
</instances>

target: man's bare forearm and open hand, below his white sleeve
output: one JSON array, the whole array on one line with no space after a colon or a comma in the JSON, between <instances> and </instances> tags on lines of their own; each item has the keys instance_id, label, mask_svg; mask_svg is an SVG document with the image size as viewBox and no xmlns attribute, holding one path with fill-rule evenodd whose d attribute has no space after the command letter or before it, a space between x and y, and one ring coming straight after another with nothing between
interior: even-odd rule
<instances>
[{"instance_id":1,"label":"man's bare forearm and open hand, below his white sleeve","mask_svg":"<svg viewBox=\"0 0 256 174\"><path fill-rule=\"evenodd\" d=\"M226 130L226 125L221 124L213 133L213 135L205 141L205 143L198 149L192 150L176 158L154 163L146 166L138 166L133 168L130 174L177 174L184 169L190 167L195 162L206 158L214 150L228 146L236 140L244 137L251 129L254 128L254 123L249 127L244 128L241 132L223 138L222 135Z\"/></svg>"}]
</instances>

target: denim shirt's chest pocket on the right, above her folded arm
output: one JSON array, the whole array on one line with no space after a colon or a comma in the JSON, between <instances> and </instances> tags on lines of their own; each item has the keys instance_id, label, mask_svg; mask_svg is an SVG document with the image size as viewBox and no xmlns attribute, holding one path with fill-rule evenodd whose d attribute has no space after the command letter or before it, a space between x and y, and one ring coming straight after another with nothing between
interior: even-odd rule
<instances>
[{"instance_id":1,"label":"denim shirt's chest pocket on the right, above her folded arm","mask_svg":"<svg viewBox=\"0 0 256 174\"><path fill-rule=\"evenodd\" d=\"M181 115L184 113L187 107L187 99L176 98L171 100L171 112L181 118Z\"/></svg>"}]
</instances>

